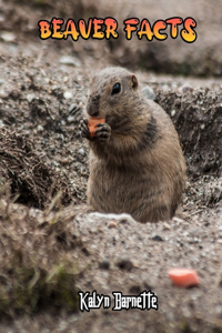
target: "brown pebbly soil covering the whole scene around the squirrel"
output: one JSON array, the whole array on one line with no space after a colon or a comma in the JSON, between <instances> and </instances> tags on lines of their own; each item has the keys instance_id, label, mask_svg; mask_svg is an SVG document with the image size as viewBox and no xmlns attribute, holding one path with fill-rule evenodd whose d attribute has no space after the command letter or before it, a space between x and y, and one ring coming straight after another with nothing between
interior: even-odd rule
<instances>
[{"instance_id":1,"label":"brown pebbly soil covering the whole scene around the squirrel","mask_svg":"<svg viewBox=\"0 0 222 333\"><path fill-rule=\"evenodd\" d=\"M205 11L214 18L211 30L219 8L201 1L198 10L192 1L183 14L176 3L147 9L150 20L193 16L206 42ZM172 41L151 43L150 51L143 43L135 54L135 41L123 38L99 50L92 40L73 48L69 40L38 38L38 20L53 14L144 17L142 6L128 2L125 11L121 6L111 11L90 2L1 3L0 34L17 38L0 40L0 332L222 332L222 80L157 75L140 67L141 57L152 52L147 69L183 73L185 65L186 74L196 74L198 63L199 74L219 74L220 46L206 52L214 50L209 40L203 52L201 42L181 48L175 40L175 67L172 52L161 56ZM189 49L195 54L188 59ZM61 62L67 54L72 64ZM115 221L91 215L85 205L89 151L78 127L90 72L111 63L137 69L141 85L153 88L179 132L189 180L172 221ZM195 269L200 285L173 286L167 273L172 266ZM111 299L113 291L151 290L159 309L78 311L77 292L94 290Z\"/></svg>"}]
</instances>

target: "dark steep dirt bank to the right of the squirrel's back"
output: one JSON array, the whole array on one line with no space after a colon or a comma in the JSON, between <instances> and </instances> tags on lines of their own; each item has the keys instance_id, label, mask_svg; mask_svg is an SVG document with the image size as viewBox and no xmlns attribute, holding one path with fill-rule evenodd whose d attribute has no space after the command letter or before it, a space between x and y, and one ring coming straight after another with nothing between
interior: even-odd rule
<instances>
[{"instance_id":1,"label":"dark steep dirt bank to the right of the squirrel's back","mask_svg":"<svg viewBox=\"0 0 222 333\"><path fill-rule=\"evenodd\" d=\"M188 87L189 89L189 87ZM185 87L184 87L185 90ZM157 102L171 115L186 155L189 175L222 172L222 98L206 89L184 93L157 92Z\"/></svg>"}]
</instances>

